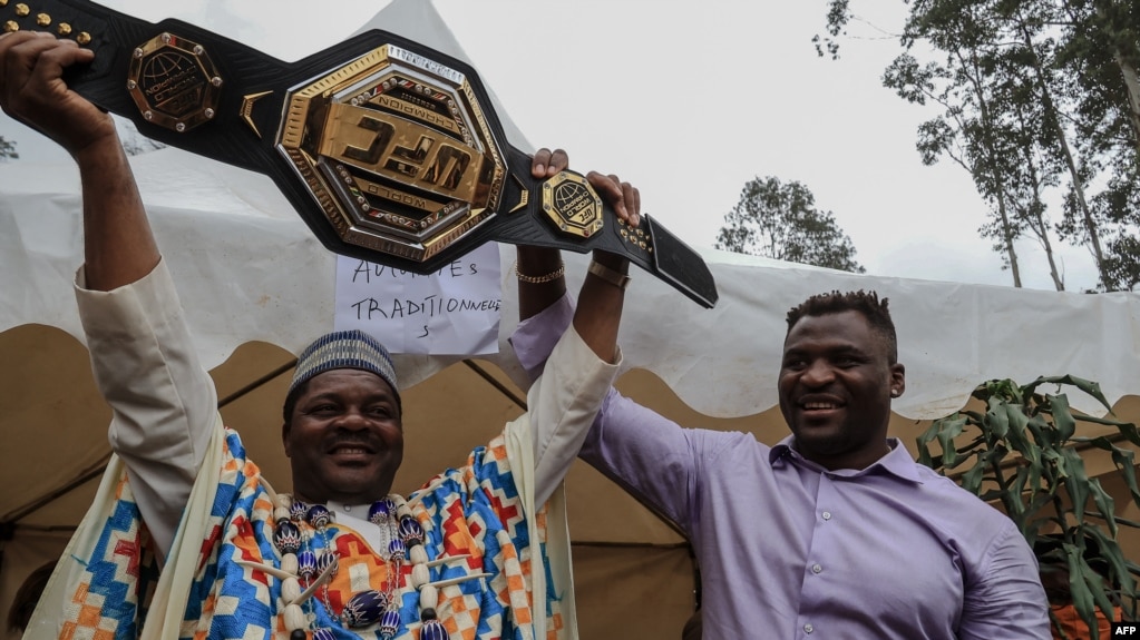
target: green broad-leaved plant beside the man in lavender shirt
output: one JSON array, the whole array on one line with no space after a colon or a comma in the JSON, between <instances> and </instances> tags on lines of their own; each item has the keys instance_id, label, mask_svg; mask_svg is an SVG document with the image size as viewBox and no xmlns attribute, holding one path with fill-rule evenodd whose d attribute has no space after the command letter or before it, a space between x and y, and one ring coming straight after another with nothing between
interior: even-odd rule
<instances>
[{"instance_id":1,"label":"green broad-leaved plant beside the man in lavender shirt","mask_svg":"<svg viewBox=\"0 0 1140 640\"><path fill-rule=\"evenodd\" d=\"M1060 560L1068 567L1073 601L1081 618L1096 625L1096 609L1113 615L1116 602L1125 609L1126 620L1134 620L1140 601L1140 564L1124 557L1115 538L1121 526L1140 527L1140 523L1115 516L1115 499L1099 478L1089 477L1084 459L1073 445L1108 451L1131 500L1140 506L1135 454L1118 445L1123 437L1140 446L1140 430L1130 422L1074 412L1065 393L1072 393L1072 388L1066 386L1110 410L1100 385L1073 376L1040 377L1024 386L1009 379L988 380L972 394L984 402L985 412L961 411L931 425L919 437L920 461L933 468L940 463L945 474L953 463L964 468L963 463L972 458L969 469L952 477L984 500L1000 501L1027 542L1037 540L1042 532L1064 535L1062 548L1043 555L1039 561ZM1078 436L1081 424L1113 426L1121 435ZM978 429L977 437L952 449L954 441L971 427ZM938 458L931 451L935 440L943 446ZM1099 545L1093 547L1093 541Z\"/></svg>"}]
</instances>

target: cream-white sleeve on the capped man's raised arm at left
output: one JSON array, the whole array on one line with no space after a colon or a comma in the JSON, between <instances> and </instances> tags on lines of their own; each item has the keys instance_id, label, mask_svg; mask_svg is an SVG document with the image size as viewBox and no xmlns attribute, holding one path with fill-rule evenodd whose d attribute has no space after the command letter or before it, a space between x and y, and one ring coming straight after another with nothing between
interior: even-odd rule
<instances>
[{"instance_id":1,"label":"cream-white sleeve on the capped man's raised arm at left","mask_svg":"<svg viewBox=\"0 0 1140 640\"><path fill-rule=\"evenodd\" d=\"M218 393L203 369L164 261L111 292L75 297L96 385L111 404L111 449L158 548L170 549L217 424Z\"/></svg>"}]
</instances>

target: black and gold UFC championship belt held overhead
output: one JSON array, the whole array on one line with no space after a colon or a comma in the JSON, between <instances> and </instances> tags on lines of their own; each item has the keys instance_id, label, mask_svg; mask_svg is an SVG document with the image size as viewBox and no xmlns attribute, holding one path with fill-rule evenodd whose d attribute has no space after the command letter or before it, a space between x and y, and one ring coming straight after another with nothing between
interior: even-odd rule
<instances>
[{"instance_id":1,"label":"black and gold UFC championship belt held overhead","mask_svg":"<svg viewBox=\"0 0 1140 640\"><path fill-rule=\"evenodd\" d=\"M488 240L602 249L716 303L691 247L648 215L629 228L578 173L532 179L475 71L405 38L374 30L285 63L83 0L0 0L0 20L92 49L68 87L144 136L268 175L337 254L431 273Z\"/></svg>"}]
</instances>

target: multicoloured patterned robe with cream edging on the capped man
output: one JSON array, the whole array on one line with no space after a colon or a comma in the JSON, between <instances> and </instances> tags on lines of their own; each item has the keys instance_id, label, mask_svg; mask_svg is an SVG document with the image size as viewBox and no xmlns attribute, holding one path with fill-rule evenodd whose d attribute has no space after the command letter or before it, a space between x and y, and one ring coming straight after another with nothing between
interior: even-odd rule
<instances>
[{"instance_id":1,"label":"multicoloured patterned robe with cream edging on the capped man","mask_svg":"<svg viewBox=\"0 0 1140 640\"><path fill-rule=\"evenodd\" d=\"M515 420L488 446L475 449L464 467L448 469L409 497L413 515L425 532L429 558L471 556L432 567L432 581L491 574L439 591L438 616L453 640L575 635L561 490L548 503L556 512L552 519L561 525L554 527L551 551L547 507L526 517L532 511L527 508L532 490L526 489L532 471L512 471L534 469L529 435L526 417ZM279 615L285 605L280 580L236 564L279 566L272 544L271 499L236 432L219 426L213 443L218 454L203 465L166 560L165 573L171 575L161 576L127 474L115 460L25 638L288 638ZM207 474L215 479L210 482ZM207 494L212 498L206 499ZM360 590L352 586L359 586L365 569L370 588L382 589L388 565L347 527L331 525L331 538L334 528L333 543L342 556L329 582L328 600L336 607ZM556 557L553 564L552 555ZM402 573L397 638L415 639L418 593L408 580L410 566L405 564ZM342 627L321 600L314 597L311 605L302 607L316 616L315 626L329 627L337 638L381 638L375 625Z\"/></svg>"}]
</instances>

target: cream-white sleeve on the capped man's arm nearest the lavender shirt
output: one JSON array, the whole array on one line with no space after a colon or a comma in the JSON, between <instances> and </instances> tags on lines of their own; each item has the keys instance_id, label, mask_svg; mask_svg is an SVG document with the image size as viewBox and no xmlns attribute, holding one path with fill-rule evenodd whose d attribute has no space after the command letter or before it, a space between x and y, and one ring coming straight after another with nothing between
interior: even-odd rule
<instances>
[{"instance_id":1,"label":"cream-white sleeve on the capped man's arm nearest the lavender shirt","mask_svg":"<svg viewBox=\"0 0 1140 640\"><path fill-rule=\"evenodd\" d=\"M554 493L597 416L621 364L604 362L573 325L555 345L543 375L527 394L535 444L535 504Z\"/></svg>"}]
</instances>

